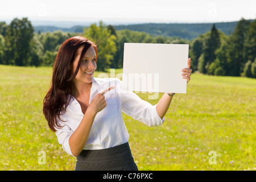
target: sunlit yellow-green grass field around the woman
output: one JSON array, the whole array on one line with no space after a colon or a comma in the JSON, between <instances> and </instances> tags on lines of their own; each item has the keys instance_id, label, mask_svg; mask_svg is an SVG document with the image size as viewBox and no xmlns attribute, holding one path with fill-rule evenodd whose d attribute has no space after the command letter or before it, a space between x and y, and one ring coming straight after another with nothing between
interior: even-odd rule
<instances>
[{"instance_id":1,"label":"sunlit yellow-green grass field around the woman","mask_svg":"<svg viewBox=\"0 0 256 182\"><path fill-rule=\"evenodd\" d=\"M42 113L51 71L0 65L0 170L74 169L76 158L63 151ZM174 96L162 126L123 114L139 170L256 170L256 79L191 78L187 94ZM160 96L148 102L154 105ZM40 151L46 164L39 163ZM210 151L216 164L209 163Z\"/></svg>"}]
</instances>

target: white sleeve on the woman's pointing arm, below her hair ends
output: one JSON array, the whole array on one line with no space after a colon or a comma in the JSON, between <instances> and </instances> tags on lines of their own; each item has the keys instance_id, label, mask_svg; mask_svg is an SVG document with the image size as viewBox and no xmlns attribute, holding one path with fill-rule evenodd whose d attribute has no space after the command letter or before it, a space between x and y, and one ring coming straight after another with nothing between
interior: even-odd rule
<instances>
[{"instance_id":1,"label":"white sleeve on the woman's pointing arm, below her hair ends","mask_svg":"<svg viewBox=\"0 0 256 182\"><path fill-rule=\"evenodd\" d=\"M59 119L58 119L58 122L60 122ZM58 142L62 145L63 150L68 154L73 155L69 146L69 138L73 134L73 131L68 125L65 125L64 123L63 125L64 125L63 127L61 127L60 129L57 129L55 134L57 135Z\"/></svg>"}]
</instances>

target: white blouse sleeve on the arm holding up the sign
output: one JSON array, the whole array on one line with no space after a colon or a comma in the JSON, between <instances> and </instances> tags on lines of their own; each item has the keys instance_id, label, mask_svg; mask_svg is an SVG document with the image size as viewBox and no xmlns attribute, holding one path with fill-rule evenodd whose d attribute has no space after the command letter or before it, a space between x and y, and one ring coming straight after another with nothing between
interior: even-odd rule
<instances>
[{"instance_id":1,"label":"white blouse sleeve on the arm holding up the sign","mask_svg":"<svg viewBox=\"0 0 256 182\"><path fill-rule=\"evenodd\" d=\"M120 81L121 82L121 81ZM122 87L122 82L121 82ZM161 119L156 112L156 105L142 100L131 91L121 92L121 109L123 113L130 115L135 120L141 121L148 126L162 125L165 118Z\"/></svg>"}]
</instances>

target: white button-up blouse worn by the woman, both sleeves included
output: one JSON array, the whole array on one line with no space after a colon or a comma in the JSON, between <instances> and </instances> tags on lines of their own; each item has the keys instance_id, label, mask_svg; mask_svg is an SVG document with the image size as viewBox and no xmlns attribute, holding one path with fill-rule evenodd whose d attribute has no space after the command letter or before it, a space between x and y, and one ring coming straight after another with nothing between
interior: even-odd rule
<instances>
[{"instance_id":1,"label":"white button-up blouse worn by the woman, both sleeves included","mask_svg":"<svg viewBox=\"0 0 256 182\"><path fill-rule=\"evenodd\" d=\"M115 86L114 89L105 93L106 107L96 114L89 138L84 146L84 150L98 150L118 146L128 142L129 134L123 113L130 115L134 119L141 121L148 126L159 126L164 122L156 113L156 105L141 100L137 94L122 90L122 82L118 78L93 78L90 89L89 104L97 93ZM69 147L69 137L77 129L84 114L79 102L71 96L71 101L61 119L65 122L61 129L57 129L56 135L64 151L73 155Z\"/></svg>"}]
</instances>

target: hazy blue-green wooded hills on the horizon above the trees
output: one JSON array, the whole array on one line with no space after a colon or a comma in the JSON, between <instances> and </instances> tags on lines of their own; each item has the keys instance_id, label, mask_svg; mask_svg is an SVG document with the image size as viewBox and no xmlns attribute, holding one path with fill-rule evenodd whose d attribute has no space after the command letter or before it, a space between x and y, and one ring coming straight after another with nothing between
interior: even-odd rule
<instances>
[{"instance_id":1,"label":"hazy blue-green wooded hills on the horizon above the trees","mask_svg":"<svg viewBox=\"0 0 256 182\"><path fill-rule=\"evenodd\" d=\"M215 23L218 30L226 35L232 34L237 22ZM213 23L144 23L114 26L116 30L129 29L133 31L147 32L152 35L177 36L183 39L195 39L200 34L210 31ZM61 30L64 32L83 32L84 26L73 26L71 28L60 28L55 26L34 26L35 32L53 32Z\"/></svg>"}]
</instances>

